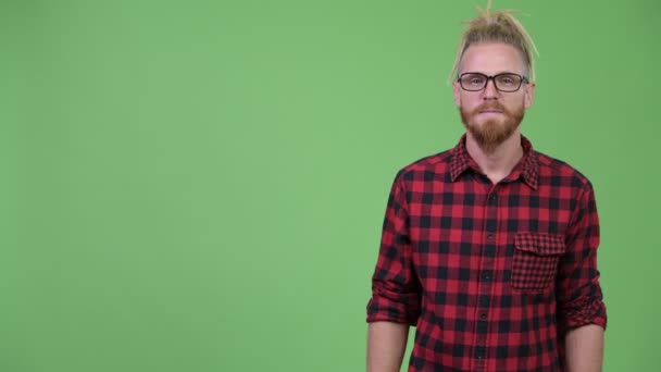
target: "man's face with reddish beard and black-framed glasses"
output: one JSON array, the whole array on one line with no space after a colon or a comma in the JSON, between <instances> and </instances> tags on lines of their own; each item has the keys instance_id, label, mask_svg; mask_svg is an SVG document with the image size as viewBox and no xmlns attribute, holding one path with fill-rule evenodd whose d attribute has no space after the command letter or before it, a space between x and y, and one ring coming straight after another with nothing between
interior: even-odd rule
<instances>
[{"instance_id":1,"label":"man's face with reddish beard and black-framed glasses","mask_svg":"<svg viewBox=\"0 0 661 372\"><path fill-rule=\"evenodd\" d=\"M488 76L501 73L526 75L521 53L506 44L469 47L459 67L460 75L466 72ZM535 85L524 82L519 90L503 92L497 90L490 79L483 90L466 91L454 82L452 90L469 134L486 153L492 153L519 128L525 110L533 104Z\"/></svg>"}]
</instances>

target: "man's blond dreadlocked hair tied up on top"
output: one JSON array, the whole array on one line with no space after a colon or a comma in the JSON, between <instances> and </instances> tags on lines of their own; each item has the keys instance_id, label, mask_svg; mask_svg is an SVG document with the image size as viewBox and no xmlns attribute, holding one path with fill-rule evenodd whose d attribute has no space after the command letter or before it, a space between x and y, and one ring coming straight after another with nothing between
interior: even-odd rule
<instances>
[{"instance_id":1,"label":"man's blond dreadlocked hair tied up on top","mask_svg":"<svg viewBox=\"0 0 661 372\"><path fill-rule=\"evenodd\" d=\"M531 83L535 83L535 60L533 52L537 55L539 55L539 52L537 51L537 47L535 47L533 38L531 38L531 35L521 22L512 15L512 13L517 11L502 10L492 12L491 3L492 0L488 0L486 10L475 7L479 15L464 22L467 24L467 27L459 41L449 82L457 79L461 59L470 46L484 42L502 42L516 48L521 52L526 67L526 77Z\"/></svg>"}]
</instances>

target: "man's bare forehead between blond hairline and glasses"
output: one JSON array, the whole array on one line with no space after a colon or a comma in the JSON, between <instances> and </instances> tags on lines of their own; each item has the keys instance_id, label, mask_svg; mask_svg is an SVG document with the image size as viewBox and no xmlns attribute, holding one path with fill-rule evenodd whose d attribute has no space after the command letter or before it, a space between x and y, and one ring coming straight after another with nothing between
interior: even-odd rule
<instances>
[{"instance_id":1,"label":"man's bare forehead between blond hairline and glasses","mask_svg":"<svg viewBox=\"0 0 661 372\"><path fill-rule=\"evenodd\" d=\"M501 42L470 46L461 58L460 71L482 72L488 75L502 72L525 73L525 63L516 48Z\"/></svg>"}]
</instances>

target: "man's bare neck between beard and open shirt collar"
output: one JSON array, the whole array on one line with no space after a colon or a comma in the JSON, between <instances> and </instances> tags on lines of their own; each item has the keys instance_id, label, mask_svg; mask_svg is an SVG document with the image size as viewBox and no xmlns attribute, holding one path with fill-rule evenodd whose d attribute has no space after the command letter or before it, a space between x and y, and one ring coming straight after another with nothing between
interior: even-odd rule
<instances>
[{"instance_id":1,"label":"man's bare neck between beard and open shirt collar","mask_svg":"<svg viewBox=\"0 0 661 372\"><path fill-rule=\"evenodd\" d=\"M523 148L521 147L521 132L516 129L502 144L498 145L494 151L485 152L471 133L466 133L466 151L482 172L497 184L500 179L507 177L516 163L523 158Z\"/></svg>"}]
</instances>

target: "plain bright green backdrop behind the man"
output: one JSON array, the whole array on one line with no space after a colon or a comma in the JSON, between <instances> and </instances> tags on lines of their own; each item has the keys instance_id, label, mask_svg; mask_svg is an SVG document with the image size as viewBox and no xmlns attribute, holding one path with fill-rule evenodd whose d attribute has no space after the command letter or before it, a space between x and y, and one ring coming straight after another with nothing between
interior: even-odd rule
<instances>
[{"instance_id":1,"label":"plain bright green backdrop behind the man","mask_svg":"<svg viewBox=\"0 0 661 372\"><path fill-rule=\"evenodd\" d=\"M363 370L387 193L462 134L474 3L0 2L0 370ZM496 5L540 51L524 134L595 185L604 370L661 370L661 5Z\"/></svg>"}]
</instances>

